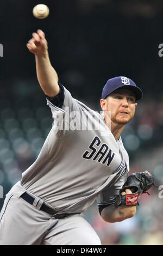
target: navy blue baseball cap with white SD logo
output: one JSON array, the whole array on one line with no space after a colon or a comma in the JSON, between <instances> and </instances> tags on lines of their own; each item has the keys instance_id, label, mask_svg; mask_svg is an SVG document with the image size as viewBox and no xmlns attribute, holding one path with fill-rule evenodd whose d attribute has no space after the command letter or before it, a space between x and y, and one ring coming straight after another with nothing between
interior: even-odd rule
<instances>
[{"instance_id":1,"label":"navy blue baseball cap with white SD logo","mask_svg":"<svg viewBox=\"0 0 163 256\"><path fill-rule=\"evenodd\" d=\"M117 76L106 82L102 92L102 99L105 99L110 93L118 88L126 88L134 92L136 101L140 100L143 96L142 90L136 86L133 80L125 76Z\"/></svg>"}]
</instances>

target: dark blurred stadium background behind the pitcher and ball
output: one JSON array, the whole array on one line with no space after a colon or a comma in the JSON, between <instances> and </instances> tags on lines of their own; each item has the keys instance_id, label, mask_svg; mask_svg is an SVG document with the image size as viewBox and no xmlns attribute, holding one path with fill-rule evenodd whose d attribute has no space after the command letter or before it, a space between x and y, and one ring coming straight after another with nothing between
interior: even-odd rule
<instances>
[{"instance_id":1,"label":"dark blurred stadium background behind the pitcher and ball","mask_svg":"<svg viewBox=\"0 0 163 256\"><path fill-rule=\"evenodd\" d=\"M32 15L47 4L45 20ZM106 81L128 76L143 90L135 118L122 134L130 157L130 173L152 170L163 185L163 2L161 0L3 1L0 15L3 45L0 94L0 185L3 197L36 159L52 127L52 114L26 47L42 29L59 80L73 97L100 111ZM162 245L163 193L143 194L133 218L106 223L93 204L85 217L103 245ZM4 198L0 199L0 210Z\"/></svg>"}]
</instances>

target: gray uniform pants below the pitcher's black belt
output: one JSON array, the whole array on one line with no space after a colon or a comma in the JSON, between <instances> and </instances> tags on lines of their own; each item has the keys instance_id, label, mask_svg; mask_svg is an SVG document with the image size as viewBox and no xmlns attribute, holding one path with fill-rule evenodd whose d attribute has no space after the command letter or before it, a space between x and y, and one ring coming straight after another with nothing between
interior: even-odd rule
<instances>
[{"instance_id":1,"label":"gray uniform pants below the pitcher's black belt","mask_svg":"<svg viewBox=\"0 0 163 256\"><path fill-rule=\"evenodd\" d=\"M60 220L20 198L20 184L7 194L0 214L0 245L101 245L83 214Z\"/></svg>"}]
</instances>

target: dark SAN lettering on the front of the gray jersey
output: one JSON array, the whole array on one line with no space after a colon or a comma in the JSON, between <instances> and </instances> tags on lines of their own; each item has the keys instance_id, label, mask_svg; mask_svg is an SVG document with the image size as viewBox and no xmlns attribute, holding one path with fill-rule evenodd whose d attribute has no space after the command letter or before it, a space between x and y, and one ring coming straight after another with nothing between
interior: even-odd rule
<instances>
[{"instance_id":1,"label":"dark SAN lettering on the front of the gray jersey","mask_svg":"<svg viewBox=\"0 0 163 256\"><path fill-rule=\"evenodd\" d=\"M101 142L99 137L95 137L89 145L91 151L86 150L83 154L83 158L87 160L93 160L106 166L109 166L114 159L115 154L109 149L108 145Z\"/></svg>"}]
</instances>

